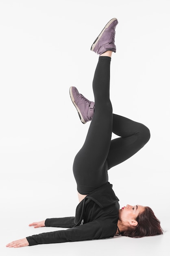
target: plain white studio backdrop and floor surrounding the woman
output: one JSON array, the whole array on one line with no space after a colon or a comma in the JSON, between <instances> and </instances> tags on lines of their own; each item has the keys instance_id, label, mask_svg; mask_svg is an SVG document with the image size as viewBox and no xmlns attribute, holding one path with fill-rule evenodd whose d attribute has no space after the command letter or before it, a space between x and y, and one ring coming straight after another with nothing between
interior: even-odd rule
<instances>
[{"instance_id":1,"label":"plain white studio backdrop and floor surrounding the woman","mask_svg":"<svg viewBox=\"0 0 170 256\"><path fill-rule=\"evenodd\" d=\"M0 254L169 255L169 0L0 0ZM163 236L6 248L12 240L58 230L33 221L74 216L74 156L89 127L69 95L94 100L93 41L118 18L111 61L113 112L150 129L150 141L109 171L126 204L150 206ZM113 136L114 138L114 136Z\"/></svg>"}]
</instances>

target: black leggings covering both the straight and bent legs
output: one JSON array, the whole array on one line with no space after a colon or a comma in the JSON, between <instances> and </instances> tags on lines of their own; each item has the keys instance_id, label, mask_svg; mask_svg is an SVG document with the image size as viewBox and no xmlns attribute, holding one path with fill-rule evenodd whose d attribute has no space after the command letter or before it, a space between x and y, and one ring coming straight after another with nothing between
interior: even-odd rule
<instances>
[{"instance_id":1,"label":"black leggings covering both the straight and bent legs","mask_svg":"<svg viewBox=\"0 0 170 256\"><path fill-rule=\"evenodd\" d=\"M95 111L85 143L73 163L77 190L87 195L108 182L107 170L134 155L149 140L149 129L112 114L109 98L110 61L100 56L93 79ZM111 140L111 134L120 136Z\"/></svg>"}]
</instances>

